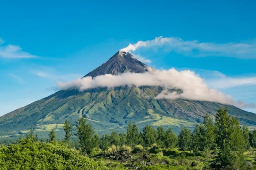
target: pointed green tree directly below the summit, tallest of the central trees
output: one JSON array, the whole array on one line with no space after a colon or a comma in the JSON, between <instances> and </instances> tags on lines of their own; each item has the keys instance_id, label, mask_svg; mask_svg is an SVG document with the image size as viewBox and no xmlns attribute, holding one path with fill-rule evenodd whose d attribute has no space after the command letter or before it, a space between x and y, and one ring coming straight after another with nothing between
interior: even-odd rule
<instances>
[{"instance_id":1,"label":"pointed green tree directly below the summit, tallest of the central trees","mask_svg":"<svg viewBox=\"0 0 256 170\"><path fill-rule=\"evenodd\" d=\"M126 133L127 133L126 143L129 146L134 147L135 145L140 144L142 142L139 129L137 128L137 125L134 122L133 124L131 123L131 121L129 122Z\"/></svg>"}]
</instances>

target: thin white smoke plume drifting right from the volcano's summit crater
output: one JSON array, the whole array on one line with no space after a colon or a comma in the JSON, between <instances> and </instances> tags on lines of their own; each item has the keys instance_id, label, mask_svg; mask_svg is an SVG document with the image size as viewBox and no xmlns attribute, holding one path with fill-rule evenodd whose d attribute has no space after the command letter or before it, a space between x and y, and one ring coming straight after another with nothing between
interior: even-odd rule
<instances>
[{"instance_id":1,"label":"thin white smoke plume drifting right from the volcano's summit crater","mask_svg":"<svg viewBox=\"0 0 256 170\"><path fill-rule=\"evenodd\" d=\"M256 58L256 42L251 43L213 43L197 40L184 41L178 37L156 37L153 40L138 41L129 44L121 51L136 51L139 48L164 48L165 51L174 51L178 54L193 57L227 56L236 58Z\"/></svg>"}]
</instances>

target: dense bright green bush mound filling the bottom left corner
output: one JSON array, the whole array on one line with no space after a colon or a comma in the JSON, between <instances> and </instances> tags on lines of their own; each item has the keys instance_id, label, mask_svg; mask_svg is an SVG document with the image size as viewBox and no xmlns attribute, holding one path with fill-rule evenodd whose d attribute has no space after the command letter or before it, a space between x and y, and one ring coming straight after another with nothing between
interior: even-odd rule
<instances>
[{"instance_id":1,"label":"dense bright green bush mound filling the bottom left corner","mask_svg":"<svg viewBox=\"0 0 256 170\"><path fill-rule=\"evenodd\" d=\"M17 144L0 147L0 167L7 169L106 169L99 161L68 149L64 143L33 142L32 139L21 139Z\"/></svg>"}]
</instances>

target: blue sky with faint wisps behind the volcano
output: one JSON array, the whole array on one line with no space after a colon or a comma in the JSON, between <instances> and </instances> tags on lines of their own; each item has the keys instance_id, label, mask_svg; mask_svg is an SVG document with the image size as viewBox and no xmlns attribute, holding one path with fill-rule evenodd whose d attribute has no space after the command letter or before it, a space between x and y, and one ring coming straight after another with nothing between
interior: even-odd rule
<instances>
[{"instance_id":1,"label":"blue sky with faint wisps behind the volcano","mask_svg":"<svg viewBox=\"0 0 256 170\"><path fill-rule=\"evenodd\" d=\"M256 104L255 10L254 1L1 2L0 115L56 92L57 82L84 76L129 43L159 36L211 50L165 45L133 54L156 69L193 70L210 88ZM252 104L243 109L256 113Z\"/></svg>"}]
</instances>

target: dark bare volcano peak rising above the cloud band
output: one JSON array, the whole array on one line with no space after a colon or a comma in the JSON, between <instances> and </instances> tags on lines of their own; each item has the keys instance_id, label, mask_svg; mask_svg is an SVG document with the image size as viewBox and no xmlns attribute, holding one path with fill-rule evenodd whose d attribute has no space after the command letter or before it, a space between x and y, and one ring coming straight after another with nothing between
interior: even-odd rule
<instances>
[{"instance_id":1,"label":"dark bare volcano peak rising above the cloud band","mask_svg":"<svg viewBox=\"0 0 256 170\"><path fill-rule=\"evenodd\" d=\"M103 63L100 67L92 70L84 77L96 77L104 74L117 75L125 72L143 73L147 71L147 65L137 60L128 52L118 51L115 55Z\"/></svg>"}]
</instances>

